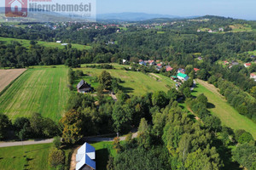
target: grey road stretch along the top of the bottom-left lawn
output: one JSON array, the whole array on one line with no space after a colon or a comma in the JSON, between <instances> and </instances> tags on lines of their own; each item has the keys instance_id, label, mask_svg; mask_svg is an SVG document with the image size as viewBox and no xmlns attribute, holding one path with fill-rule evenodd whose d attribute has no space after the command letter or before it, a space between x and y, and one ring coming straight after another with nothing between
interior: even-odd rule
<instances>
[{"instance_id":1,"label":"grey road stretch along the top of the bottom-left lawn","mask_svg":"<svg viewBox=\"0 0 256 170\"><path fill-rule=\"evenodd\" d=\"M9 147L9 146L20 146L20 145L29 145L29 144L49 144L52 143L53 139L38 139L38 140L26 140L23 142L1 142L0 148Z\"/></svg>"}]
</instances>

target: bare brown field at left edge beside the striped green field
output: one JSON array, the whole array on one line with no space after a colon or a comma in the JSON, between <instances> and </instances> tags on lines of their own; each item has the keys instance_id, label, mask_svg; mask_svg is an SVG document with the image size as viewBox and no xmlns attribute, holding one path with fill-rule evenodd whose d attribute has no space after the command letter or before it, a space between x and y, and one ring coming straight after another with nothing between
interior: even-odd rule
<instances>
[{"instance_id":1,"label":"bare brown field at left edge beside the striped green field","mask_svg":"<svg viewBox=\"0 0 256 170\"><path fill-rule=\"evenodd\" d=\"M9 69L0 70L0 92L13 82L15 78L19 77L26 69Z\"/></svg>"}]
</instances>

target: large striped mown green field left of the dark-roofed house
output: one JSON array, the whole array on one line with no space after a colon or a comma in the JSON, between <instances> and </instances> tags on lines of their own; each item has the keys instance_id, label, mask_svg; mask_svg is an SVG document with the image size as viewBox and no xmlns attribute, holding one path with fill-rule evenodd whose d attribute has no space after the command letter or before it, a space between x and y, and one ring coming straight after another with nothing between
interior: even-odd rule
<instances>
[{"instance_id":1,"label":"large striped mown green field left of the dark-roofed house","mask_svg":"<svg viewBox=\"0 0 256 170\"><path fill-rule=\"evenodd\" d=\"M58 121L69 97L67 68L29 69L0 96L0 112L14 120L41 113Z\"/></svg>"}]
</instances>

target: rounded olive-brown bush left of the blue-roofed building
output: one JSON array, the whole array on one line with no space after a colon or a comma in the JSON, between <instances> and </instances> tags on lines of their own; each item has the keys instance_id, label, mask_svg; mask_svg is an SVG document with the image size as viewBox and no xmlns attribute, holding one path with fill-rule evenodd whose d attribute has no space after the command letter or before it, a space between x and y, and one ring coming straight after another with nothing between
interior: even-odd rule
<instances>
[{"instance_id":1,"label":"rounded olive-brown bush left of the blue-roofed building","mask_svg":"<svg viewBox=\"0 0 256 170\"><path fill-rule=\"evenodd\" d=\"M57 167L65 163L65 155L62 150L56 148L50 150L49 152L49 166Z\"/></svg>"}]
</instances>

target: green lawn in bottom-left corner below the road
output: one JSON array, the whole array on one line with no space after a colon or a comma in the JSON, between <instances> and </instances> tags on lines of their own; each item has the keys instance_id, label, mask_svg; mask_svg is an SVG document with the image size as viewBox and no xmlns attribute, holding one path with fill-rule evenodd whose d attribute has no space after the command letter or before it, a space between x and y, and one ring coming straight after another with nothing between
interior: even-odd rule
<instances>
[{"instance_id":1,"label":"green lawn in bottom-left corner below the road","mask_svg":"<svg viewBox=\"0 0 256 170\"><path fill-rule=\"evenodd\" d=\"M48 166L48 155L51 145L32 144L0 148L0 169L50 169Z\"/></svg>"}]
</instances>

